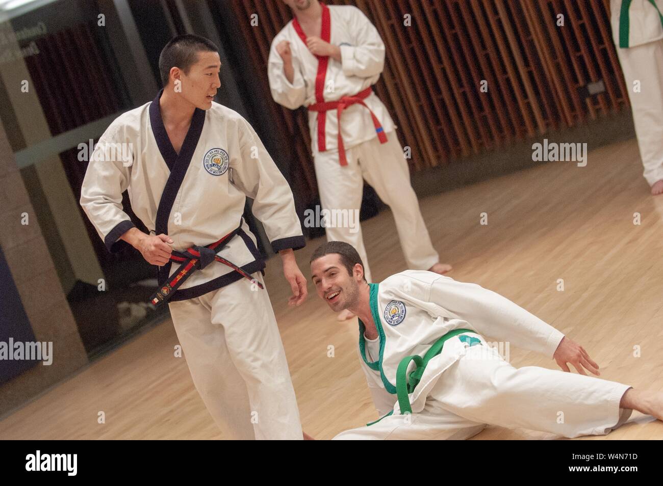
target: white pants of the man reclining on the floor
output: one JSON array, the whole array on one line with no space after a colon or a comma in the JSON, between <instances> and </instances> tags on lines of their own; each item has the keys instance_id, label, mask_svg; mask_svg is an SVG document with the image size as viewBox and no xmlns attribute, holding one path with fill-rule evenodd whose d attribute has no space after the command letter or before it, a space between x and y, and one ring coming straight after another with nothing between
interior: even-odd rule
<instances>
[{"instance_id":1,"label":"white pants of the man reclining on the floor","mask_svg":"<svg viewBox=\"0 0 663 486\"><path fill-rule=\"evenodd\" d=\"M483 348L483 349L482 349ZM491 356L491 359L487 357ZM487 424L564 437L607 434L631 415L629 385L537 366L514 368L475 345L442 373L420 413L391 415L338 440L467 439ZM394 401L396 395L394 395Z\"/></svg>"}]
</instances>

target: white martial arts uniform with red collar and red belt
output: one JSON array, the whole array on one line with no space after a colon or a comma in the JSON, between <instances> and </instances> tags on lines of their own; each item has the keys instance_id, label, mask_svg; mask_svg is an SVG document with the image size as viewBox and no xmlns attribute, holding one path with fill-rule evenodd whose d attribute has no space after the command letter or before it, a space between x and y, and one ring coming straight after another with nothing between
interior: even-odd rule
<instances>
[{"instance_id":1,"label":"white martial arts uniform with red collar and red belt","mask_svg":"<svg viewBox=\"0 0 663 486\"><path fill-rule=\"evenodd\" d=\"M371 91L385 64L385 44L369 19L351 5L323 5L321 37L340 47L341 62L314 56L306 47L306 35L293 19L272 41L268 74L272 97L284 107L311 108L324 102L347 102L341 115L344 158L339 154L337 109L328 109L326 113L308 112L322 207L359 211L363 179L366 179L394 213L408 266L428 269L438 263L439 257L410 185L410 171L396 136L396 126L385 105ZM276 52L282 40L290 42L292 83L286 78L283 60ZM366 96L362 101L365 106L352 104L348 98L359 93ZM386 142L381 143L385 134ZM346 161L347 165L341 165ZM361 228L354 232L351 228L328 226L326 233L328 240L347 242L357 249L370 281Z\"/></svg>"}]
</instances>

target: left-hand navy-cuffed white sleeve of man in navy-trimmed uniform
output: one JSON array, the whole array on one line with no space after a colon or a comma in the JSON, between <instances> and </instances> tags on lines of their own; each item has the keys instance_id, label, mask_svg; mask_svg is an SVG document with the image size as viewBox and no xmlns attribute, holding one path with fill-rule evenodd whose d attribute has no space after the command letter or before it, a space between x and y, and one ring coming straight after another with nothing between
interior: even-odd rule
<instances>
[{"instance_id":1,"label":"left-hand navy-cuffed white sleeve of man in navy-trimmed uniform","mask_svg":"<svg viewBox=\"0 0 663 486\"><path fill-rule=\"evenodd\" d=\"M121 125L111 124L101 135L81 187L80 205L109 252L129 246L119 237L134 227L122 207L122 193L129 186L133 163L121 160L122 152L116 150L124 142L122 130Z\"/></svg>"}]
</instances>

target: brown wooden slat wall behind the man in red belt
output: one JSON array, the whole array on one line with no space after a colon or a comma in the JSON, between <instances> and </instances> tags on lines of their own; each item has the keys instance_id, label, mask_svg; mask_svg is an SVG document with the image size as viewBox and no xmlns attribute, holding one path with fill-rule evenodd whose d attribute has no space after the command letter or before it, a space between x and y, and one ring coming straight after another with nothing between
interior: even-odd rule
<instances>
[{"instance_id":1,"label":"brown wooden slat wall behind the man in red belt","mask_svg":"<svg viewBox=\"0 0 663 486\"><path fill-rule=\"evenodd\" d=\"M330 0L359 7L379 30L387 62L375 91L412 148L412 170L498 150L629 105L609 22L609 0ZM265 73L272 38L292 17L282 3L231 0L243 45ZM257 13L261 28L250 26ZM405 15L411 25L404 26ZM564 26L558 26L558 15ZM603 79L605 93L578 89ZM488 92L479 89L482 80ZM303 110L271 102L316 192Z\"/></svg>"}]
</instances>

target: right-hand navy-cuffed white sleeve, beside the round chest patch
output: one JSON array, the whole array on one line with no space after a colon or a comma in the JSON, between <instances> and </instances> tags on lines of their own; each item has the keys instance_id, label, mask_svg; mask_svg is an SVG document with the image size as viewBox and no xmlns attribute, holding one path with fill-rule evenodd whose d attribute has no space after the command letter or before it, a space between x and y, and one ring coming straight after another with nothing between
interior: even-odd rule
<instances>
[{"instance_id":1,"label":"right-hand navy-cuffed white sleeve, beside the round chest patch","mask_svg":"<svg viewBox=\"0 0 663 486\"><path fill-rule=\"evenodd\" d=\"M231 183L253 199L253 214L265 226L274 252L304 248L292 191L280 173L253 126L241 118L239 130L240 156L232 158Z\"/></svg>"}]
</instances>

